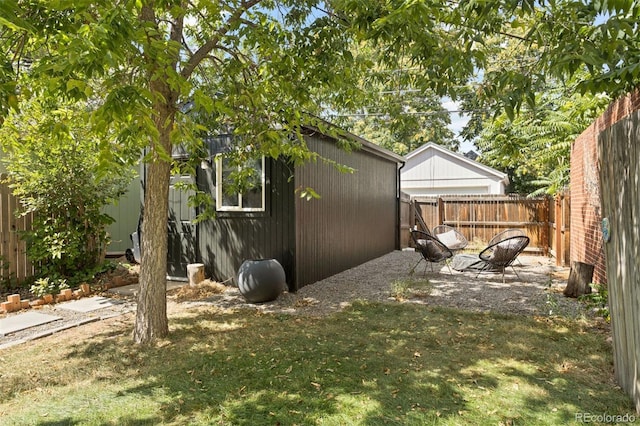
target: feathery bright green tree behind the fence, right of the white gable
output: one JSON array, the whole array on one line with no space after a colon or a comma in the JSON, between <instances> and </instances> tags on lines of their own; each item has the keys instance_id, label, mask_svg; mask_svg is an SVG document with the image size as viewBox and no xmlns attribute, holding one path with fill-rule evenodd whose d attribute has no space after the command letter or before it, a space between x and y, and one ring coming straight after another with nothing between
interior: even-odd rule
<instances>
[{"instance_id":1,"label":"feathery bright green tree behind the fence, right of the white gable","mask_svg":"<svg viewBox=\"0 0 640 426\"><path fill-rule=\"evenodd\" d=\"M475 142L479 161L508 172L513 192L562 192L569 185L571 143L609 102L605 95L572 90L540 93L535 109L525 106L513 120L502 113L485 125Z\"/></svg>"}]
</instances>

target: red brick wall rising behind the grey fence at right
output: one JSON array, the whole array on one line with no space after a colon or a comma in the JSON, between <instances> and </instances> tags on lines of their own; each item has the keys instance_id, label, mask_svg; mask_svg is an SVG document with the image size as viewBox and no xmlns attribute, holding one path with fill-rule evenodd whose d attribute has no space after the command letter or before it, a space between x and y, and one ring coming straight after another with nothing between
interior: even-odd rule
<instances>
[{"instance_id":1,"label":"red brick wall rising behind the grey fence at right","mask_svg":"<svg viewBox=\"0 0 640 426\"><path fill-rule=\"evenodd\" d=\"M571 261L595 265L593 282L607 282L602 244L598 135L640 109L640 90L613 102L571 146Z\"/></svg>"}]
</instances>

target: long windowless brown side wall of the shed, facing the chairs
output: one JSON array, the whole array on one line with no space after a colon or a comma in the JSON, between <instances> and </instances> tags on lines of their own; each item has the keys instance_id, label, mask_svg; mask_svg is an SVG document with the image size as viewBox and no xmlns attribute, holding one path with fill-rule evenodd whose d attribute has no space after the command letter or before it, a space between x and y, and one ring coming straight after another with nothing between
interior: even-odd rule
<instances>
[{"instance_id":1,"label":"long windowless brown side wall of the shed, facing the chairs","mask_svg":"<svg viewBox=\"0 0 640 426\"><path fill-rule=\"evenodd\" d=\"M397 247L397 163L364 150L351 153L319 136L308 146L356 169L342 173L320 160L296 168L296 189L321 198L296 198L297 282L302 287Z\"/></svg>"}]
</instances>

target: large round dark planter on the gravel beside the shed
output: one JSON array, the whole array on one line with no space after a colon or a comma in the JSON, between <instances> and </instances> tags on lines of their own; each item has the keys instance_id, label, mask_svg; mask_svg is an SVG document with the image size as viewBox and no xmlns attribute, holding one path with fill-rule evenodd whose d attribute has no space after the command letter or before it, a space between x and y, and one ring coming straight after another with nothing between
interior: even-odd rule
<instances>
[{"instance_id":1,"label":"large round dark planter on the gravel beside the shed","mask_svg":"<svg viewBox=\"0 0 640 426\"><path fill-rule=\"evenodd\" d=\"M245 260L238 269L238 290L251 303L277 299L286 283L284 268L275 259Z\"/></svg>"}]
</instances>

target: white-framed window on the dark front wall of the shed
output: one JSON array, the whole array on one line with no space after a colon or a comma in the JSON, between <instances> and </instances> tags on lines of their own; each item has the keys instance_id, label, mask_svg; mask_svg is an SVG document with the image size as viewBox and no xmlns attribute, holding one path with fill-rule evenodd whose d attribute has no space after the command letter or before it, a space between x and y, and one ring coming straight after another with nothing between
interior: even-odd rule
<instances>
[{"instance_id":1,"label":"white-framed window on the dark front wall of the shed","mask_svg":"<svg viewBox=\"0 0 640 426\"><path fill-rule=\"evenodd\" d=\"M244 175L242 192L230 192L232 175ZM218 211L264 211L264 157L244 166L231 166L222 155L216 156L216 209Z\"/></svg>"}]
</instances>

